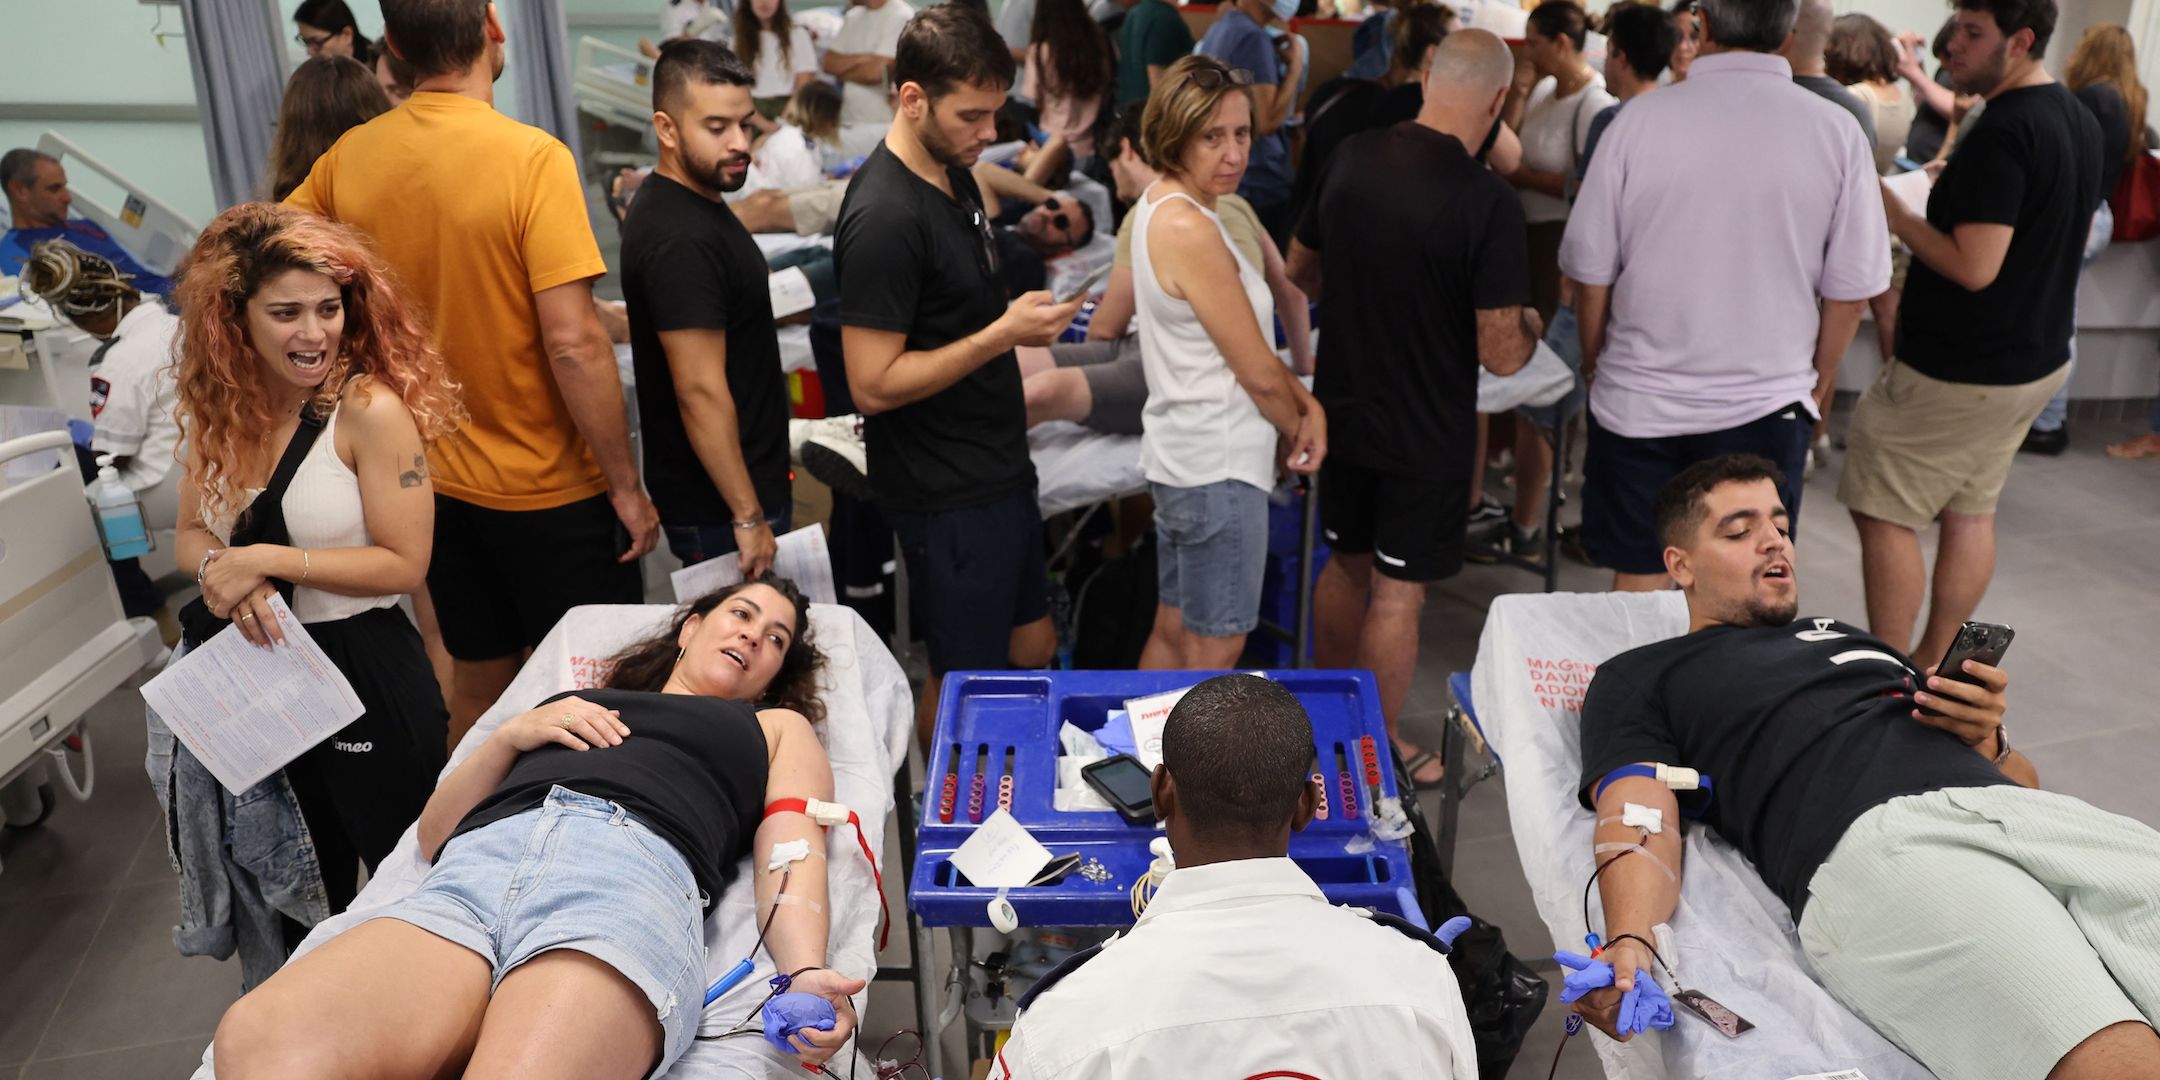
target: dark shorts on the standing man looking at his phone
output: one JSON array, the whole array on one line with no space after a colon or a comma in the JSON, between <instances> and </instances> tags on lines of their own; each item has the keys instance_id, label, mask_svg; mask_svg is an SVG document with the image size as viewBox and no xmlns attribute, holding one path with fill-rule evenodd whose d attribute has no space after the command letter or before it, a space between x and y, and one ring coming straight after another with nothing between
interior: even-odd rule
<instances>
[{"instance_id":1,"label":"dark shorts on the standing man looking at his phone","mask_svg":"<svg viewBox=\"0 0 2160 1080\"><path fill-rule=\"evenodd\" d=\"M907 559L907 611L931 672L1002 672L1013 626L1050 613L1035 486L961 510L888 510Z\"/></svg>"}]
</instances>

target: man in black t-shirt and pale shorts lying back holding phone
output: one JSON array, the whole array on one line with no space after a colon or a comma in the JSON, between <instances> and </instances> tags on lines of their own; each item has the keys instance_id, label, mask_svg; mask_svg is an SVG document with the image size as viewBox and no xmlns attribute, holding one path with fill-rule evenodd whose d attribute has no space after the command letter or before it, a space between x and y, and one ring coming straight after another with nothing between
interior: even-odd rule
<instances>
[{"instance_id":1,"label":"man in black t-shirt and pale shorts lying back holding phone","mask_svg":"<svg viewBox=\"0 0 2160 1080\"><path fill-rule=\"evenodd\" d=\"M2000 670L1968 661L1979 685L1955 683L1795 620L1778 477L1713 458L1657 499L1689 633L1614 657L1583 702L1596 842L1642 851L1601 855L1616 981L1575 1009L1616 1035L1622 991L1659 963L1644 942L1680 894L1687 797L1791 905L1823 987L1935 1076L2160 1078L2160 834L2039 791L2002 730ZM1614 778L1631 765L1698 769L1711 799ZM1626 804L1663 829L1624 825Z\"/></svg>"}]
</instances>

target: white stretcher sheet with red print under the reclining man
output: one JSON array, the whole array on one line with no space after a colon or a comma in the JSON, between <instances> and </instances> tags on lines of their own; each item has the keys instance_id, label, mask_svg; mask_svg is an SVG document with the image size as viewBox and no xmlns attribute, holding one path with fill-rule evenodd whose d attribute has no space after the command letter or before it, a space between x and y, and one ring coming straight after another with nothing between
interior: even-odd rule
<instances>
[{"instance_id":1,"label":"white stretcher sheet with red print under the reclining man","mask_svg":"<svg viewBox=\"0 0 2160 1080\"><path fill-rule=\"evenodd\" d=\"M1583 881L1594 870L1581 784L1581 702L1596 665L1687 633L1687 603L1657 594L1518 594L1493 600L1471 698L1508 778L1508 821L1538 914L1560 948L1583 953ZM1687 765L1687 762L1674 762ZM1603 907L1592 894L1603 927ZM1691 989L1756 1024L1726 1039L1678 1015L1665 1032L1596 1045L1611 1080L1784 1080L1860 1069L1868 1080L1929 1080L1808 974L1791 912L1732 845L1687 827L1680 909L1668 957Z\"/></svg>"}]
</instances>

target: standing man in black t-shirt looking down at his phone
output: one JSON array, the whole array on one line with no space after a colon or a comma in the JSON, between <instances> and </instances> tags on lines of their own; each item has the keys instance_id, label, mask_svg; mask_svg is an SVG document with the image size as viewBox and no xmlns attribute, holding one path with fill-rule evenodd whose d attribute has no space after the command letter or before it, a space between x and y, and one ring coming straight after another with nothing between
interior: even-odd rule
<instances>
[{"instance_id":1,"label":"standing man in black t-shirt looking down at his phone","mask_svg":"<svg viewBox=\"0 0 2160 1080\"><path fill-rule=\"evenodd\" d=\"M922 9L901 30L892 82L899 117L847 188L834 261L868 484L901 538L929 646L916 708L929 741L946 672L1041 667L1056 652L1013 346L1048 346L1080 300L1004 300L968 173L1013 84L1013 54L989 17Z\"/></svg>"}]
</instances>

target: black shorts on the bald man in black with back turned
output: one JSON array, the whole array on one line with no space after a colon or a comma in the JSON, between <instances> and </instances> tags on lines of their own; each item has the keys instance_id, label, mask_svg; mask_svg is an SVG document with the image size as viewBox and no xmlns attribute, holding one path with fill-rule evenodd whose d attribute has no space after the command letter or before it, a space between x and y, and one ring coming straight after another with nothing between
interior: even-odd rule
<instances>
[{"instance_id":1,"label":"black shorts on the bald man in black with back turned","mask_svg":"<svg viewBox=\"0 0 2160 1080\"><path fill-rule=\"evenodd\" d=\"M1398 581L1441 581L1462 570L1469 529L1462 480L1382 473L1337 456L1320 462L1320 529L1346 555L1372 555Z\"/></svg>"}]
</instances>

